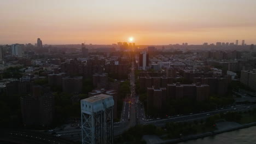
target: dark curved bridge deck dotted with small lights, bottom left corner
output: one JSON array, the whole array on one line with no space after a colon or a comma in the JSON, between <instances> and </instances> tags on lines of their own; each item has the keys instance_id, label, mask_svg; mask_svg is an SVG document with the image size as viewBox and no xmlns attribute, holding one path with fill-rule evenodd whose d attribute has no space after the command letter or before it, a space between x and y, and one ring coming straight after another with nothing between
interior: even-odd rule
<instances>
[{"instance_id":1,"label":"dark curved bridge deck dotted with small lights, bottom left corner","mask_svg":"<svg viewBox=\"0 0 256 144\"><path fill-rule=\"evenodd\" d=\"M57 137L54 135L44 134L37 131L26 130L0 130L0 141L21 143L21 144L74 144L75 142Z\"/></svg>"}]
</instances>

